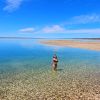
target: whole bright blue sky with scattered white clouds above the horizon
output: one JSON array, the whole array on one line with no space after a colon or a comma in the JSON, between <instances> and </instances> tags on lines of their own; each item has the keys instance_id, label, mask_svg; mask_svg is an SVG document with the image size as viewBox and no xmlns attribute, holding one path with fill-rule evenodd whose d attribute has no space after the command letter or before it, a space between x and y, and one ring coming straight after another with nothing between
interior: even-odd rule
<instances>
[{"instance_id":1,"label":"whole bright blue sky with scattered white clouds above the horizon","mask_svg":"<svg viewBox=\"0 0 100 100\"><path fill-rule=\"evenodd\" d=\"M100 0L0 0L0 36L100 37Z\"/></svg>"}]
</instances>

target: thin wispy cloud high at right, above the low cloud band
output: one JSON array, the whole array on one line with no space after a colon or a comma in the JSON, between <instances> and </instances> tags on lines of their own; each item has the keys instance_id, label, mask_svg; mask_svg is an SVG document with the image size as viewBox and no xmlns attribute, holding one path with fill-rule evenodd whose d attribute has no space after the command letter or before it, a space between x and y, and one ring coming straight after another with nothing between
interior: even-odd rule
<instances>
[{"instance_id":1,"label":"thin wispy cloud high at right, above the low cloud band","mask_svg":"<svg viewBox=\"0 0 100 100\"><path fill-rule=\"evenodd\" d=\"M65 24L87 24L95 22L100 22L100 15L90 14L90 15L74 16L67 22L65 22Z\"/></svg>"}]
</instances>

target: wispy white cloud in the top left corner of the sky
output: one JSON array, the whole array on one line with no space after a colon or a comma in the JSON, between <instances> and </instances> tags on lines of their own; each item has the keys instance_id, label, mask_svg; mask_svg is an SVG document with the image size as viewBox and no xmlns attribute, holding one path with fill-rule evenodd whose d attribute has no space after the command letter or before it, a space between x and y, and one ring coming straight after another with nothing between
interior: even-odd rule
<instances>
[{"instance_id":1,"label":"wispy white cloud in the top left corner of the sky","mask_svg":"<svg viewBox=\"0 0 100 100\"><path fill-rule=\"evenodd\" d=\"M23 1L25 0L6 0L6 6L3 8L3 10L12 12L18 9Z\"/></svg>"}]
</instances>

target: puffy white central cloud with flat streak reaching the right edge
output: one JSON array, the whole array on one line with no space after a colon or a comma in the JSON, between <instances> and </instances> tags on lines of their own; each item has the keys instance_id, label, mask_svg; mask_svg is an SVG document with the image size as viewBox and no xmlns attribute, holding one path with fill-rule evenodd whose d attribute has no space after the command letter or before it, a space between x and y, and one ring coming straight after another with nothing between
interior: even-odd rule
<instances>
[{"instance_id":1,"label":"puffy white central cloud with flat streak reaching the right edge","mask_svg":"<svg viewBox=\"0 0 100 100\"><path fill-rule=\"evenodd\" d=\"M97 29L66 29L60 25L52 27L44 27L36 33L100 33L100 28Z\"/></svg>"}]
</instances>

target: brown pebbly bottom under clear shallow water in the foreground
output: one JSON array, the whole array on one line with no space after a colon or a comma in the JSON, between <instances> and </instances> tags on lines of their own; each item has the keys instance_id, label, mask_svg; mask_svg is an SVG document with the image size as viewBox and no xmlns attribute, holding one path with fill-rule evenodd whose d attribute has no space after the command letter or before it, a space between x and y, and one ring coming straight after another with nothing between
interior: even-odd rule
<instances>
[{"instance_id":1,"label":"brown pebbly bottom under clear shallow water in the foreground","mask_svg":"<svg viewBox=\"0 0 100 100\"><path fill-rule=\"evenodd\" d=\"M0 100L100 100L100 70L29 70L0 75Z\"/></svg>"}]
</instances>

